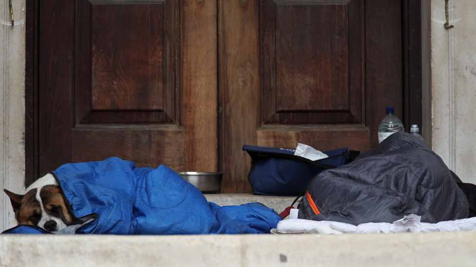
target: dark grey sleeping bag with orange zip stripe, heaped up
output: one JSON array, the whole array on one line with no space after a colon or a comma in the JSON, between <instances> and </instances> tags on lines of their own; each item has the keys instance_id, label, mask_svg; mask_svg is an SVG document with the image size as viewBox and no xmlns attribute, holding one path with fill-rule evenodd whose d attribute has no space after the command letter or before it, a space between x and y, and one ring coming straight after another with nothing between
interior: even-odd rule
<instances>
[{"instance_id":1,"label":"dark grey sleeping bag with orange zip stripe, heaped up","mask_svg":"<svg viewBox=\"0 0 476 267\"><path fill-rule=\"evenodd\" d=\"M395 133L353 162L314 177L298 217L358 225L392 223L408 214L436 223L467 218L469 205L435 152L408 133Z\"/></svg>"}]
</instances>

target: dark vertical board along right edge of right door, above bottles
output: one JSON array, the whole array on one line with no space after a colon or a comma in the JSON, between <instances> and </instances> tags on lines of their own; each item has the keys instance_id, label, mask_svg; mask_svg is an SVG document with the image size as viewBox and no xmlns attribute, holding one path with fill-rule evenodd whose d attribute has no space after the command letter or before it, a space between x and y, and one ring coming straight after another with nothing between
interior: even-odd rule
<instances>
[{"instance_id":1,"label":"dark vertical board along right edge of right door, above bottles","mask_svg":"<svg viewBox=\"0 0 476 267\"><path fill-rule=\"evenodd\" d=\"M366 0L365 14L366 125L375 147L385 107L394 107L395 115L402 118L401 2Z\"/></svg>"}]
</instances>

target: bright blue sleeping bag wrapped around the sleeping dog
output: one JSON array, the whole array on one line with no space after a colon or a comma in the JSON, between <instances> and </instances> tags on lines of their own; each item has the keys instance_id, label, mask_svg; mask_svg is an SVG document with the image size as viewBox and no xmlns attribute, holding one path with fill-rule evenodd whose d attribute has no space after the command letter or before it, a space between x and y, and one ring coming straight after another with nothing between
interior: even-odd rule
<instances>
[{"instance_id":1,"label":"bright blue sleeping bag wrapped around the sleeping dog","mask_svg":"<svg viewBox=\"0 0 476 267\"><path fill-rule=\"evenodd\" d=\"M109 158L65 164L53 174L73 213L84 222L59 233L269 233L281 220L259 203L220 207L207 202L198 188L164 165L138 168L131 161ZM28 228L3 233L44 232Z\"/></svg>"}]
</instances>

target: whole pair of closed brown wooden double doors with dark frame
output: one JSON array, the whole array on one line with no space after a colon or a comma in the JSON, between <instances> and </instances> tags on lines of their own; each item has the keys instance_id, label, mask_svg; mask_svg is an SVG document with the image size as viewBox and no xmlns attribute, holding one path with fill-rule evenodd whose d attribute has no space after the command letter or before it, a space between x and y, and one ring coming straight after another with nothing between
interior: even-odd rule
<instances>
[{"instance_id":1,"label":"whole pair of closed brown wooden double doors with dark frame","mask_svg":"<svg viewBox=\"0 0 476 267\"><path fill-rule=\"evenodd\" d=\"M223 193L249 193L244 144L364 151L385 107L402 115L400 1L33 0L27 12L27 184L117 156L222 171Z\"/></svg>"}]
</instances>

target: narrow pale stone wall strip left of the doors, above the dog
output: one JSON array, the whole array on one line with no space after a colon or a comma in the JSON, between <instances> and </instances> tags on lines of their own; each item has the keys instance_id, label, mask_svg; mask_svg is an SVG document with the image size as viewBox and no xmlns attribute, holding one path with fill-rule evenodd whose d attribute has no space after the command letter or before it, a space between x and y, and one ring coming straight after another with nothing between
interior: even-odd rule
<instances>
[{"instance_id":1,"label":"narrow pale stone wall strip left of the doors, above the dog","mask_svg":"<svg viewBox=\"0 0 476 267\"><path fill-rule=\"evenodd\" d=\"M8 1L0 5L0 186L24 189L25 170L25 1L12 1L15 25ZM15 225L10 199L0 197L0 229Z\"/></svg>"}]
</instances>

